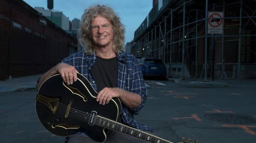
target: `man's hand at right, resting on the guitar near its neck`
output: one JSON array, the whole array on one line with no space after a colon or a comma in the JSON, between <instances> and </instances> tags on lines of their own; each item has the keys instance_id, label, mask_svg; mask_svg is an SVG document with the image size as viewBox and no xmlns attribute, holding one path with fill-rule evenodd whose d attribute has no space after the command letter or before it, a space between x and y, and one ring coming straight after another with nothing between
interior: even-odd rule
<instances>
[{"instance_id":1,"label":"man's hand at right, resting on the guitar near its neck","mask_svg":"<svg viewBox=\"0 0 256 143\"><path fill-rule=\"evenodd\" d=\"M98 101L99 104L105 105L105 104L108 104L108 102L113 97L120 97L123 94L123 92L124 92L124 90L122 90L120 88L105 87L101 91L99 91L96 101Z\"/></svg>"}]
</instances>

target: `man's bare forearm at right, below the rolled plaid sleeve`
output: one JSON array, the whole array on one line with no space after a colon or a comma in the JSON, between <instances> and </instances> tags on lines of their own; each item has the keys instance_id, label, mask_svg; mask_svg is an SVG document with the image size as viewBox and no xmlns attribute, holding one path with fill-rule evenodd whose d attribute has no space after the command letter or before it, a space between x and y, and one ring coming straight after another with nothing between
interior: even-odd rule
<instances>
[{"instance_id":1,"label":"man's bare forearm at right, below the rolled plaid sleeve","mask_svg":"<svg viewBox=\"0 0 256 143\"><path fill-rule=\"evenodd\" d=\"M142 101L141 95L135 94L135 93L132 93L132 92L129 92L126 90L122 90L120 99L121 99L122 103L130 109L140 106L141 101Z\"/></svg>"}]
</instances>

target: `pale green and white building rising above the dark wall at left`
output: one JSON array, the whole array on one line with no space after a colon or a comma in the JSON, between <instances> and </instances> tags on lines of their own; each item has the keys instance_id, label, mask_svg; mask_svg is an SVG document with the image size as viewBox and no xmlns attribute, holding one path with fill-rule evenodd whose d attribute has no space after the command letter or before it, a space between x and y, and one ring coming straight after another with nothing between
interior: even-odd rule
<instances>
[{"instance_id":1,"label":"pale green and white building rising above the dark wall at left","mask_svg":"<svg viewBox=\"0 0 256 143\"><path fill-rule=\"evenodd\" d=\"M35 9L39 13L42 13L46 18L53 21L63 30L69 30L69 17L66 17L62 11L45 10L43 7L35 7Z\"/></svg>"}]
</instances>

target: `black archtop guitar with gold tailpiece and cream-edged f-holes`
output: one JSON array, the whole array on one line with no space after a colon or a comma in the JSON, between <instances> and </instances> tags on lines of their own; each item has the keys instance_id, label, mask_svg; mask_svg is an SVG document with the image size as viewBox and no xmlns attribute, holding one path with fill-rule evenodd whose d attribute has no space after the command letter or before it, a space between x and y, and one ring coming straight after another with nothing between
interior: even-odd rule
<instances>
[{"instance_id":1,"label":"black archtop guitar with gold tailpiece and cream-edged f-holes","mask_svg":"<svg viewBox=\"0 0 256 143\"><path fill-rule=\"evenodd\" d=\"M110 129L151 143L172 143L116 122L121 111L119 98L100 105L96 101L98 93L89 81L79 73L77 77L76 82L68 85L60 74L56 74L40 86L36 95L36 113L49 132L58 136L85 132L96 142L105 142L106 129ZM184 139L180 143L185 143Z\"/></svg>"}]
</instances>

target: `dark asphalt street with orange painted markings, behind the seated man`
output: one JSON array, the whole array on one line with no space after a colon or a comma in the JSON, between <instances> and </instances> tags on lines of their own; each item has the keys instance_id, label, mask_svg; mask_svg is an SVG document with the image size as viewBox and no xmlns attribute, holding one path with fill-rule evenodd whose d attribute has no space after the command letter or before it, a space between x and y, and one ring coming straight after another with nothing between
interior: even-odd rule
<instances>
[{"instance_id":1,"label":"dark asphalt street with orange painted markings, behind the seated man","mask_svg":"<svg viewBox=\"0 0 256 143\"><path fill-rule=\"evenodd\" d=\"M163 80L145 80L148 98L138 122L159 137L178 142L254 143L255 87L191 88ZM63 143L43 128L35 111L36 91L0 93L1 143Z\"/></svg>"}]
</instances>

